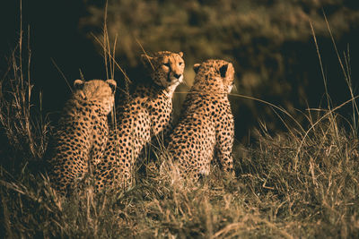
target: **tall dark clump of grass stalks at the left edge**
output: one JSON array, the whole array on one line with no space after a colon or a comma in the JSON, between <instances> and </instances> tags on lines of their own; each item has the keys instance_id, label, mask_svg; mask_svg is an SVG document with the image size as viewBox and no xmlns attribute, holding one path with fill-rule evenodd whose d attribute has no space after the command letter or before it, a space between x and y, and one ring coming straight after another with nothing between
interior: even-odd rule
<instances>
[{"instance_id":1,"label":"tall dark clump of grass stalks at the left edge","mask_svg":"<svg viewBox=\"0 0 359 239\"><path fill-rule=\"evenodd\" d=\"M22 4L21 4L22 10ZM31 45L30 27L27 44L23 42L22 24L17 46L9 59L9 69L1 80L0 124L4 128L7 140L15 151L22 151L22 157L41 158L46 149L48 123L42 112L35 113L31 105ZM27 55L23 57L23 46ZM27 60L26 66L22 64ZM22 150L19 150L20 149Z\"/></svg>"}]
</instances>

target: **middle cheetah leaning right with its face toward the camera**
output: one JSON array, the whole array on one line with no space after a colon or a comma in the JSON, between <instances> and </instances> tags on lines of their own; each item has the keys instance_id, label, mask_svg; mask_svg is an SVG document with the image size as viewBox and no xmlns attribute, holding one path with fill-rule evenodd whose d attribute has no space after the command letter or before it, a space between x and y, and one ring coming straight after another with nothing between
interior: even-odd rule
<instances>
[{"instance_id":1,"label":"middle cheetah leaning right with its face toward the camera","mask_svg":"<svg viewBox=\"0 0 359 239\"><path fill-rule=\"evenodd\" d=\"M172 96L183 81L183 53L161 51L142 55L149 70L148 84L141 84L125 105L117 108L117 129L109 132L104 158L95 173L95 190L131 185L136 158L153 137L171 128Z\"/></svg>"}]
</instances>

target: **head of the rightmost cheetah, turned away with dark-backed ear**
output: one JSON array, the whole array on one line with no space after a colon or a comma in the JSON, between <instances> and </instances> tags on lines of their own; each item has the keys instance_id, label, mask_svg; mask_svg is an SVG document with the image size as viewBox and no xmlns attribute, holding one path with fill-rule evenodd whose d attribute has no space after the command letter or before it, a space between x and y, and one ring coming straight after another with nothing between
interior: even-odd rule
<instances>
[{"instance_id":1,"label":"head of the rightmost cheetah, turned away with dark-backed ear","mask_svg":"<svg viewBox=\"0 0 359 239\"><path fill-rule=\"evenodd\" d=\"M196 73L194 84L206 84L211 88L223 89L226 93L231 92L234 79L234 68L231 63L210 59L202 64L194 64L193 70Z\"/></svg>"}]
</instances>

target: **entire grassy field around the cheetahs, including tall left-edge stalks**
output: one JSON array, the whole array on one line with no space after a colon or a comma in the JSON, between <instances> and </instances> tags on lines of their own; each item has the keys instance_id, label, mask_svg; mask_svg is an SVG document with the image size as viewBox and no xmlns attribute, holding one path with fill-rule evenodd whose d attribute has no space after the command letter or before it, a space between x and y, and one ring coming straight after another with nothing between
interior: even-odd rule
<instances>
[{"instance_id":1,"label":"entire grassy field around the cheetahs, including tall left-edge stalks","mask_svg":"<svg viewBox=\"0 0 359 239\"><path fill-rule=\"evenodd\" d=\"M22 39L1 81L0 235L6 238L298 238L359 235L357 97L308 109L303 128L272 107L287 132L266 124L258 141L233 149L236 176L217 166L201 182L180 182L155 157L123 192L94 194L92 179L70 198L44 176L42 156L53 123L31 105L31 55ZM343 67L346 69L346 67ZM350 87L350 74L344 71ZM325 79L324 79L325 81ZM37 97L37 96L36 96ZM40 96L39 96L40 97ZM241 100L233 95L235 100ZM328 102L330 98L327 95ZM254 100L254 99L253 99ZM328 104L330 106L330 104ZM337 115L351 105L347 119ZM283 114L284 113L284 114ZM289 122L292 122L289 124ZM289 126L294 125L294 126ZM241 127L241 125L236 125Z\"/></svg>"}]
</instances>

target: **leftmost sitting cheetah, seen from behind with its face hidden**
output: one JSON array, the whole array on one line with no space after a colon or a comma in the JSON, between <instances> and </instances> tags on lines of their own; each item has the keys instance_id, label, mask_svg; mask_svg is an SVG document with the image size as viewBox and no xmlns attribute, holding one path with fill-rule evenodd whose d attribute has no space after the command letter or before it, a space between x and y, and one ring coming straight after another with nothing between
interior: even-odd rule
<instances>
[{"instance_id":1,"label":"leftmost sitting cheetah, seen from behind with its face hidden","mask_svg":"<svg viewBox=\"0 0 359 239\"><path fill-rule=\"evenodd\" d=\"M96 166L108 139L108 115L115 101L116 81L74 81L57 131L50 141L48 175L51 184L67 195L76 181Z\"/></svg>"}]
</instances>

